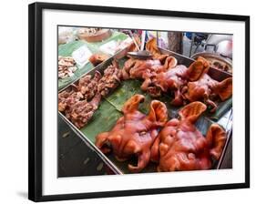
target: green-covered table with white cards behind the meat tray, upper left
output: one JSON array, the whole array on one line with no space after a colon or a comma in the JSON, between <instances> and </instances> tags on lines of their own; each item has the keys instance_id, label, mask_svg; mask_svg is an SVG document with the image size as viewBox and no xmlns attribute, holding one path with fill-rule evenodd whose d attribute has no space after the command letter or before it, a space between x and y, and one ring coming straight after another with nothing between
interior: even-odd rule
<instances>
[{"instance_id":1,"label":"green-covered table with white cards behind the meat tray, upper left","mask_svg":"<svg viewBox=\"0 0 256 204\"><path fill-rule=\"evenodd\" d=\"M72 68L72 73L70 72L69 75L66 74L65 77L58 78L58 90L75 82L95 66L106 61L109 57L116 55L120 50L133 48L133 42L129 36L118 31L111 33L111 36L97 42L88 42L83 39L74 40L58 46L58 56L72 57L76 64L76 66L74 66L76 68ZM112 46L113 50L110 52L104 49L100 50L100 47L108 45L109 43L114 44L114 46ZM126 55L126 53L123 55ZM62 76L61 73L60 76Z\"/></svg>"}]
</instances>

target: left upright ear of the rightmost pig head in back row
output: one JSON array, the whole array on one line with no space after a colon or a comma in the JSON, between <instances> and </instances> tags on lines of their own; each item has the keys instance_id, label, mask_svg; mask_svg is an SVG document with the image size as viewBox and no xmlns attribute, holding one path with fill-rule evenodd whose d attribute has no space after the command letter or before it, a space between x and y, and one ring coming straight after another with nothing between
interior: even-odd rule
<instances>
[{"instance_id":1,"label":"left upright ear of the rightmost pig head in back row","mask_svg":"<svg viewBox=\"0 0 256 204\"><path fill-rule=\"evenodd\" d=\"M189 81L199 80L200 76L206 74L209 68L209 62L205 58L199 56L197 61L193 62L187 70Z\"/></svg>"}]
</instances>

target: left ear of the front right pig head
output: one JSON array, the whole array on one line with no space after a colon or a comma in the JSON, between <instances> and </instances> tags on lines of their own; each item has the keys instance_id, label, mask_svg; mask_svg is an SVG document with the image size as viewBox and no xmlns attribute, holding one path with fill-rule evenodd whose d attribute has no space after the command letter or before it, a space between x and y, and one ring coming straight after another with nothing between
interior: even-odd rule
<instances>
[{"instance_id":1,"label":"left ear of the front right pig head","mask_svg":"<svg viewBox=\"0 0 256 204\"><path fill-rule=\"evenodd\" d=\"M200 101L192 102L179 110L179 117L181 120L187 119L190 123L195 123L206 108Z\"/></svg>"}]
</instances>

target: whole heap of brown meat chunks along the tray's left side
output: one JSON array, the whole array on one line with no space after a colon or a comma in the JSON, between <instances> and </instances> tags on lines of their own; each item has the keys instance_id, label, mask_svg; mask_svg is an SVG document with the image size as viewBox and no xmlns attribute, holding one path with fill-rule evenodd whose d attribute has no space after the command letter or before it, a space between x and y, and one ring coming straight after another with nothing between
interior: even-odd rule
<instances>
[{"instance_id":1,"label":"whole heap of brown meat chunks along the tray's left side","mask_svg":"<svg viewBox=\"0 0 256 204\"><path fill-rule=\"evenodd\" d=\"M94 76L81 77L77 84L58 94L58 110L62 112L77 128L83 128L93 117L101 97L118 87L120 71L118 63L104 70L103 76L96 71Z\"/></svg>"}]
</instances>

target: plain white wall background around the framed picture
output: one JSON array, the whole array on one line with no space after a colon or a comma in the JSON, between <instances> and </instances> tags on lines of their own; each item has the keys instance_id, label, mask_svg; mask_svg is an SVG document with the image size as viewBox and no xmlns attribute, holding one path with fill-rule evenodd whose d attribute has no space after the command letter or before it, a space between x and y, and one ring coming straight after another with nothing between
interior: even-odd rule
<instances>
[{"instance_id":1,"label":"plain white wall background around the framed picture","mask_svg":"<svg viewBox=\"0 0 256 204\"><path fill-rule=\"evenodd\" d=\"M39 1L39 0L38 0ZM27 5L33 1L3 1L0 31L0 203L27 200ZM153 196L72 200L55 203L242 203L253 200L255 181L255 6L253 1L131 1L62 0L56 3L127 6L177 11L251 15L251 189L215 190ZM243 55L241 53L241 55Z\"/></svg>"}]
</instances>

